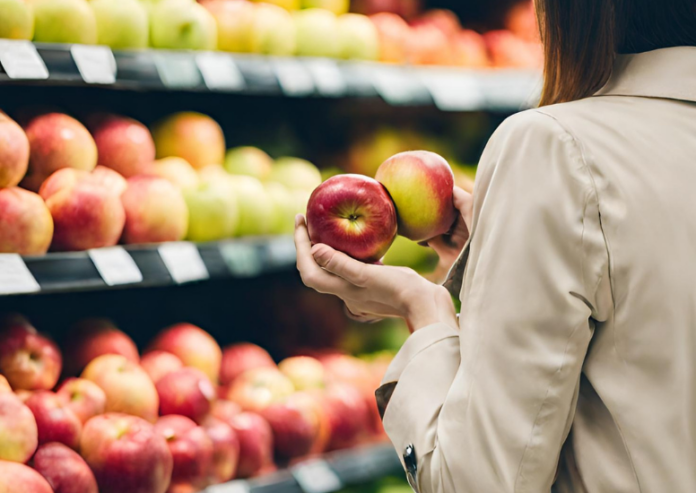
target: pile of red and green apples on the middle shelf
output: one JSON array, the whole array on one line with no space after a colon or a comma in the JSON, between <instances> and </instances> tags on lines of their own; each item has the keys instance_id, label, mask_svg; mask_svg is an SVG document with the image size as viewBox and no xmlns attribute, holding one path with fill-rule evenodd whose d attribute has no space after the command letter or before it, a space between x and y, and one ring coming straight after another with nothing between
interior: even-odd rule
<instances>
[{"instance_id":1,"label":"pile of red and green apples on the middle shelf","mask_svg":"<svg viewBox=\"0 0 696 493\"><path fill-rule=\"evenodd\" d=\"M226 151L198 113L152 133L118 115L86 123L40 113L20 126L0 112L0 253L284 234L321 183L308 161Z\"/></svg>"}]
</instances>

